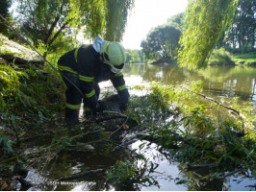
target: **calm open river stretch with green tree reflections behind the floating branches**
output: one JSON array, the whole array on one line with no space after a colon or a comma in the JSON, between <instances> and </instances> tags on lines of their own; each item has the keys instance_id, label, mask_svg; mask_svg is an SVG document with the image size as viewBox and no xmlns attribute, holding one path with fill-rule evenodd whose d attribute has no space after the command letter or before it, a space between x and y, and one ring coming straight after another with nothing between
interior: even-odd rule
<instances>
[{"instance_id":1,"label":"calm open river stretch with green tree reflections behind the floating branches","mask_svg":"<svg viewBox=\"0 0 256 192\"><path fill-rule=\"evenodd\" d=\"M127 64L123 72L127 84L153 81L181 84L202 81L204 93L209 96L240 97L256 106L255 67L208 66L205 70L190 71L173 65Z\"/></svg>"}]
</instances>

